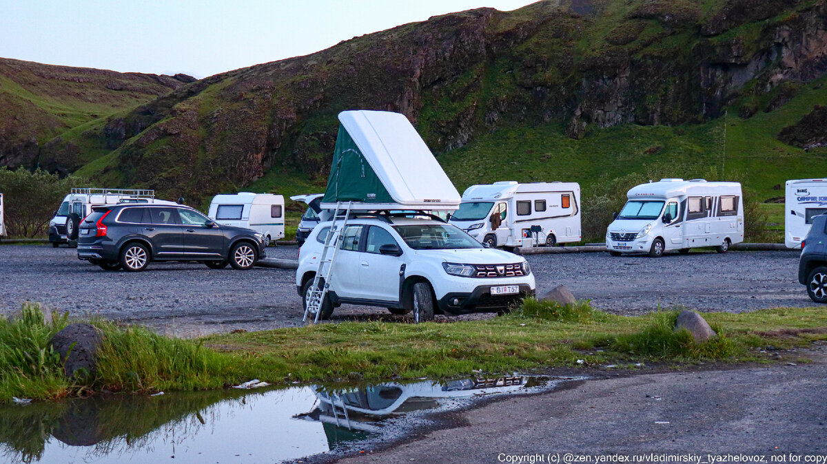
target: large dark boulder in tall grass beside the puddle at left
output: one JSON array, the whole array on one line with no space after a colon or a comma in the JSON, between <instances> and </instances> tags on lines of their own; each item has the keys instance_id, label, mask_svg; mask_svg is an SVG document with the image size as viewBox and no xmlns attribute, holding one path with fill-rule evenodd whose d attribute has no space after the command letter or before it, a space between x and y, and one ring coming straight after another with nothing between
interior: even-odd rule
<instances>
[{"instance_id":1,"label":"large dark boulder in tall grass beside the puddle at left","mask_svg":"<svg viewBox=\"0 0 827 464\"><path fill-rule=\"evenodd\" d=\"M49 341L64 362L64 372L74 378L75 372L85 369L94 374L98 367L98 348L103 336L92 324L69 324Z\"/></svg>"}]
</instances>

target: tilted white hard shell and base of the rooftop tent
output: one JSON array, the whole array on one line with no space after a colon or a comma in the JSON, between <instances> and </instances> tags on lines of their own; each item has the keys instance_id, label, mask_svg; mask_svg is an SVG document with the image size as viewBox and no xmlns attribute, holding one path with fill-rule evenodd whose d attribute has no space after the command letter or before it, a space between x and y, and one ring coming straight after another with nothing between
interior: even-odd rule
<instances>
[{"instance_id":1,"label":"tilted white hard shell and base of the rooftop tent","mask_svg":"<svg viewBox=\"0 0 827 464\"><path fill-rule=\"evenodd\" d=\"M352 209L456 210L460 194L414 125L390 111L342 111L339 121L396 201L354 204ZM329 204L322 206L331 207Z\"/></svg>"}]
</instances>

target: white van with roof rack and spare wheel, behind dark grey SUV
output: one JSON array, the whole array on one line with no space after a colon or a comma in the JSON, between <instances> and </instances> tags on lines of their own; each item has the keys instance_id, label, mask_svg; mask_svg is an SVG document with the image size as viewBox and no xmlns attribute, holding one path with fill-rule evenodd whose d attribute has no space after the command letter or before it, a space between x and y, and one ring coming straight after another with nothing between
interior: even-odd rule
<instances>
[{"instance_id":1,"label":"white van with roof rack and spare wheel, behind dark grey SUV","mask_svg":"<svg viewBox=\"0 0 827 464\"><path fill-rule=\"evenodd\" d=\"M121 203L150 203L175 205L174 201L158 200L154 190L123 188L73 188L65 196L55 217L49 222L49 241L57 248L78 239L78 225L92 212L93 206Z\"/></svg>"}]
</instances>

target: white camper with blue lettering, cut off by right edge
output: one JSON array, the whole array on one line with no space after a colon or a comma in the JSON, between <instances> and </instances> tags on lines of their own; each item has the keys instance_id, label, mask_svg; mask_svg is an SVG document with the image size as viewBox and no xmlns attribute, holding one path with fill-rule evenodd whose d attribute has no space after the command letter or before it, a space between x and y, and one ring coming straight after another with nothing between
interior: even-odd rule
<instances>
[{"instance_id":1,"label":"white camper with blue lettering, cut off by right edge","mask_svg":"<svg viewBox=\"0 0 827 464\"><path fill-rule=\"evenodd\" d=\"M827 179L786 181L784 210L784 244L800 249L813 218L827 213Z\"/></svg>"}]
</instances>

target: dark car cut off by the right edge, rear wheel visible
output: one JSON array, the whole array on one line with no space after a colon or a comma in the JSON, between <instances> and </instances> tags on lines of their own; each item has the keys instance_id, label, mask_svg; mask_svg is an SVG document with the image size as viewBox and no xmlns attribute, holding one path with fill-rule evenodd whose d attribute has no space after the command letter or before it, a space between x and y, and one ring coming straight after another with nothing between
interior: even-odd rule
<instances>
[{"instance_id":1,"label":"dark car cut off by the right edge, rear wheel visible","mask_svg":"<svg viewBox=\"0 0 827 464\"><path fill-rule=\"evenodd\" d=\"M798 282L816 303L827 303L827 215L813 218L810 232L801 241Z\"/></svg>"}]
</instances>

